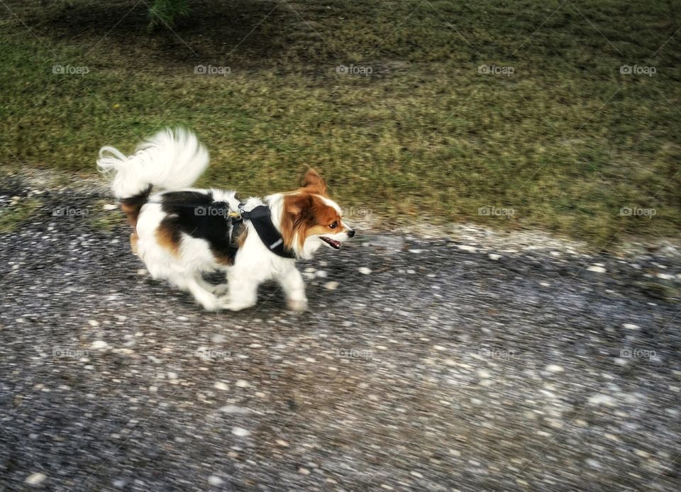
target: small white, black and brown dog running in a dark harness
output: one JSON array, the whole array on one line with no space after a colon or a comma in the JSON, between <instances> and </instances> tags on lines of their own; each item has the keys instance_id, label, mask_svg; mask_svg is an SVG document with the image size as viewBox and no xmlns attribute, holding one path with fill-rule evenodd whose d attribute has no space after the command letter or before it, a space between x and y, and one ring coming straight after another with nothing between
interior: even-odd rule
<instances>
[{"instance_id":1,"label":"small white, black and brown dog running in a dark harness","mask_svg":"<svg viewBox=\"0 0 681 492\"><path fill-rule=\"evenodd\" d=\"M162 130L129 157L102 147L97 160L135 229L132 250L154 279L189 291L208 311L250 308L258 286L275 279L288 308L305 311L296 259L322 245L339 250L355 235L323 179L309 170L295 191L240 201L235 191L189 188L208 164L206 148L181 128ZM160 191L152 194L153 186ZM226 272L227 284L201 276L216 271Z\"/></svg>"}]
</instances>

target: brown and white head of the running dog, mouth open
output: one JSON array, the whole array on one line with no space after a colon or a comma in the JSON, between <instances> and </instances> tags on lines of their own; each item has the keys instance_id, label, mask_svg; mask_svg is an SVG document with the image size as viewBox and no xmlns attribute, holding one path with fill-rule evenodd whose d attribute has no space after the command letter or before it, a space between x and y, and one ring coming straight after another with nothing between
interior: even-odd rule
<instances>
[{"instance_id":1,"label":"brown and white head of the running dog, mouth open","mask_svg":"<svg viewBox=\"0 0 681 492\"><path fill-rule=\"evenodd\" d=\"M340 250L343 241L355 235L355 230L343 222L338 203L326 193L326 183L310 169L303 177L302 187L284 194L281 232L284 245L301 258L309 258L322 245Z\"/></svg>"}]
</instances>

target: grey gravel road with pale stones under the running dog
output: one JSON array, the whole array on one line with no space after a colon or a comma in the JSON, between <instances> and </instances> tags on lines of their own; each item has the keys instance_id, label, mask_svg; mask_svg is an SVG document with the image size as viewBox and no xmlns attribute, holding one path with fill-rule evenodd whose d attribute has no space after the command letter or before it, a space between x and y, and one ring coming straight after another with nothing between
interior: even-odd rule
<instances>
[{"instance_id":1,"label":"grey gravel road with pale stones under the running dog","mask_svg":"<svg viewBox=\"0 0 681 492\"><path fill-rule=\"evenodd\" d=\"M28 194L0 236L0 490L681 486L673 247L360 231L301 263L308 313L274 285L204 313L94 227L103 196L8 181L0 206Z\"/></svg>"}]
</instances>

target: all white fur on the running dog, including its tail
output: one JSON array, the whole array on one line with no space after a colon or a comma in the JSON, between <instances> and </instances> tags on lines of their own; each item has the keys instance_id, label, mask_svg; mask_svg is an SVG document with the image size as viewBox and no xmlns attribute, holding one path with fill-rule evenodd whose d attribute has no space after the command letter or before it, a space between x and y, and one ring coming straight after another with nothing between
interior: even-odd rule
<instances>
[{"instance_id":1,"label":"all white fur on the running dog, including its tail","mask_svg":"<svg viewBox=\"0 0 681 492\"><path fill-rule=\"evenodd\" d=\"M186 189L208 165L208 152L203 145L193 133L182 129L157 133L140 145L131 157L123 156L113 147L103 147L99 156L97 166L102 172L114 174L111 187L120 199L140 194L149 185L165 191ZM225 201L232 210L238 208L239 201L234 191L210 191L214 201ZM335 202L325 200L340 211ZM161 194L150 196L148 203L140 209L136 226L137 253L154 279L165 279L179 289L189 291L208 311L221 308L239 311L255 306L258 286L274 279L282 286L290 309L306 310L305 286L295 259L279 257L268 250L250 222L245 222L248 235L236 253L234 264L229 267L216 262L208 242L184 233L179 254L173 255L157 241L156 230L166 216L160 203L155 203L159 201ZM250 198L245 201L244 210L250 211L255 206L266 204L272 211L272 222L280 231L283 201L283 194L273 194L265 200ZM345 227L350 230L347 225ZM349 237L345 232L333 234L333 239L341 242ZM309 237L301 248L297 241L294 244L297 257L310 258L326 243L319 237ZM218 270L226 272L227 284L212 286L201 276Z\"/></svg>"}]
</instances>

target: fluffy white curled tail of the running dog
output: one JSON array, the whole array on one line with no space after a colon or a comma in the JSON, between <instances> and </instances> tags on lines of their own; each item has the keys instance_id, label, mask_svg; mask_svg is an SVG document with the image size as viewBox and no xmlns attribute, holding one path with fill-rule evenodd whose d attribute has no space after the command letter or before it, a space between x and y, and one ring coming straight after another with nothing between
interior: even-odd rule
<instances>
[{"instance_id":1,"label":"fluffy white curled tail of the running dog","mask_svg":"<svg viewBox=\"0 0 681 492\"><path fill-rule=\"evenodd\" d=\"M187 188L208 167L209 156L196 135L183 128L166 128L138 145L126 157L114 147L101 147L97 169L113 177L118 199L148 194L151 186L164 190Z\"/></svg>"}]
</instances>

